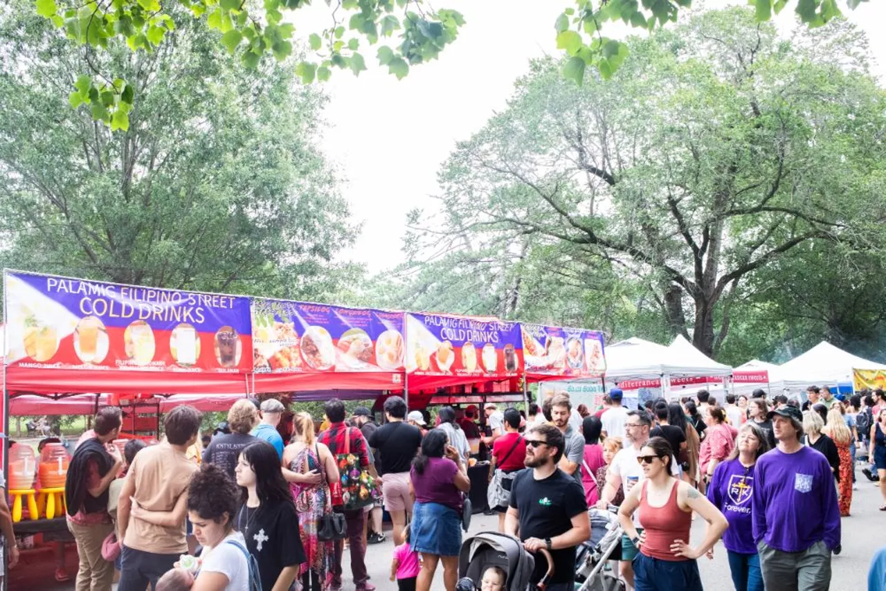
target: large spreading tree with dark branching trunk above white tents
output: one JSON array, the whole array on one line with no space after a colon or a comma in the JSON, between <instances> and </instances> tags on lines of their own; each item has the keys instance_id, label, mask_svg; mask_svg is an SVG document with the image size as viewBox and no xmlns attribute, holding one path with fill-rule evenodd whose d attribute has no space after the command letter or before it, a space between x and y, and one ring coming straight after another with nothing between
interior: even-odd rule
<instances>
[{"instance_id":1,"label":"large spreading tree with dark branching trunk above white tents","mask_svg":"<svg viewBox=\"0 0 886 591\"><path fill-rule=\"evenodd\" d=\"M608 261L716 354L743 281L812 239L859 241L855 221L884 211L884 94L864 56L824 55L857 35L843 22L781 42L736 8L630 39L606 83L536 62L443 166L439 229Z\"/></svg>"}]
</instances>

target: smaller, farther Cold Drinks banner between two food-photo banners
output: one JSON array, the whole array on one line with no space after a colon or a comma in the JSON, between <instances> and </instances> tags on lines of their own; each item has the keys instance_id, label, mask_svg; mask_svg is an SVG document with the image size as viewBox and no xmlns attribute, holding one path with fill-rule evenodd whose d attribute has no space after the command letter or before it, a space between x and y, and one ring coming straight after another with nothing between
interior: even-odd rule
<instances>
[{"instance_id":1,"label":"smaller, farther Cold Drinks banner between two food-photo banners","mask_svg":"<svg viewBox=\"0 0 886 591\"><path fill-rule=\"evenodd\" d=\"M406 335L408 373L501 378L523 369L518 323L409 313Z\"/></svg>"}]
</instances>

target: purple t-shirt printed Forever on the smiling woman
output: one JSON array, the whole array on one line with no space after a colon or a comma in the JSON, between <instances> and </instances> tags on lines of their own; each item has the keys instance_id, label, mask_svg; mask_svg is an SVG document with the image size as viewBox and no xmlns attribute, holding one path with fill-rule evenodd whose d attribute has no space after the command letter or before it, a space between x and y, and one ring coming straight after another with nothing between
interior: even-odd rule
<instances>
[{"instance_id":1,"label":"purple t-shirt printed Forever on the smiling woman","mask_svg":"<svg viewBox=\"0 0 886 591\"><path fill-rule=\"evenodd\" d=\"M751 498L754 496L754 466L745 468L735 460L719 463L708 486L708 500L729 522L723 545L739 554L757 554L754 543Z\"/></svg>"}]
</instances>

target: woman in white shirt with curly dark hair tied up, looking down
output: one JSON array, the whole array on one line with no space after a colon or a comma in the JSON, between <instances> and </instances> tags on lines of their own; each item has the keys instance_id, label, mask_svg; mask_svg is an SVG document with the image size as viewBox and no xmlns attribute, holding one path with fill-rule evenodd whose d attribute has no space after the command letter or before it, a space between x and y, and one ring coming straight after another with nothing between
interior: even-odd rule
<instances>
[{"instance_id":1,"label":"woman in white shirt with curly dark hair tied up, looking down","mask_svg":"<svg viewBox=\"0 0 886 591\"><path fill-rule=\"evenodd\" d=\"M191 478L188 517L203 546L191 591L249 591L249 555L243 535L234 531L239 498L237 484L211 463Z\"/></svg>"}]
</instances>

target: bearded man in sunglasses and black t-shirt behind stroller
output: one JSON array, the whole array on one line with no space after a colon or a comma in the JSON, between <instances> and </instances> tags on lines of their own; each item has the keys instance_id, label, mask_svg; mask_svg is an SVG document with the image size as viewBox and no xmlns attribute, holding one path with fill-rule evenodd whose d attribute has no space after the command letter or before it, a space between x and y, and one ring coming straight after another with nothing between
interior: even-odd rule
<instances>
[{"instance_id":1,"label":"bearded man in sunglasses and black t-shirt behind stroller","mask_svg":"<svg viewBox=\"0 0 886 591\"><path fill-rule=\"evenodd\" d=\"M537 552L547 548L554 560L554 576L548 591L572 591L575 548L590 538L585 491L557 463L563 456L563 433L554 425L540 424L526 433L525 466L510 487L505 533L517 535L524 548ZM547 561L535 556L532 583L548 571Z\"/></svg>"}]
</instances>

